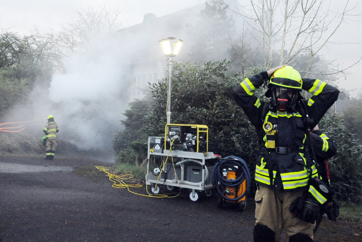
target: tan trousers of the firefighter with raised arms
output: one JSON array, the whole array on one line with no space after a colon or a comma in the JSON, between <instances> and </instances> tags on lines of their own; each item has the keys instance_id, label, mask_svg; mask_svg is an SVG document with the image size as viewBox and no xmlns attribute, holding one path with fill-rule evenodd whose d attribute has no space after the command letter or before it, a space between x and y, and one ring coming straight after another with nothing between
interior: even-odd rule
<instances>
[{"instance_id":1,"label":"tan trousers of the firefighter with raised arms","mask_svg":"<svg viewBox=\"0 0 362 242\"><path fill-rule=\"evenodd\" d=\"M283 228L287 238L297 233L303 233L313 239L314 225L295 218L289 212L290 204L302 194L303 189L274 191L271 188L259 186L259 190L255 194L255 225L265 225L273 230L276 242L280 241Z\"/></svg>"}]
</instances>

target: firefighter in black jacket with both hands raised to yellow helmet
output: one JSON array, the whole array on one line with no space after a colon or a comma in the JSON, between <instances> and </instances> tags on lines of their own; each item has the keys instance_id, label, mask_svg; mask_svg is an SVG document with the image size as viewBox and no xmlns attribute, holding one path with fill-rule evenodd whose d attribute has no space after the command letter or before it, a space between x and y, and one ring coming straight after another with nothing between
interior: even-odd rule
<instances>
[{"instance_id":1,"label":"firefighter in black jacket with both hands raised to yellow helmet","mask_svg":"<svg viewBox=\"0 0 362 242\"><path fill-rule=\"evenodd\" d=\"M253 94L264 80L268 81L265 95L270 102ZM312 97L303 100L302 90ZM278 242L283 228L290 242L313 241L313 223L331 192L308 158L305 142L310 128L333 105L338 93L318 79L302 80L298 71L285 65L245 78L234 88L234 98L256 128L260 142L254 242Z\"/></svg>"}]
</instances>

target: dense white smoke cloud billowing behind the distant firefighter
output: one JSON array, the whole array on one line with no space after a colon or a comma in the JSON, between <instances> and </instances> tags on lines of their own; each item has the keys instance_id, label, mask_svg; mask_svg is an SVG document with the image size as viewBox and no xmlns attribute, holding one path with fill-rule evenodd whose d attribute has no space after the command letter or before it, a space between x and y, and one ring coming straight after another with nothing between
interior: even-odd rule
<instances>
[{"instance_id":1,"label":"dense white smoke cloud billowing behind the distant firefighter","mask_svg":"<svg viewBox=\"0 0 362 242\"><path fill-rule=\"evenodd\" d=\"M23 132L43 136L48 115L59 125L58 148L66 142L83 150L112 156L112 140L122 129L120 120L129 101L129 80L123 77L122 63L130 54L114 39L102 40L86 54L74 55L65 61L65 72L52 76L49 89L34 87L26 106L16 106L7 122L24 123ZM127 82L128 81L128 82ZM42 80L38 80L42 83Z\"/></svg>"}]
</instances>

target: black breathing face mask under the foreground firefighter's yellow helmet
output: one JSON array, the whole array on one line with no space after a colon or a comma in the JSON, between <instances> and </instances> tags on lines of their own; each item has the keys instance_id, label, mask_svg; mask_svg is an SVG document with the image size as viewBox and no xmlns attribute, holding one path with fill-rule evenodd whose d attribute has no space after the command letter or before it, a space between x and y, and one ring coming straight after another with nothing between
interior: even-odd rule
<instances>
[{"instance_id":1,"label":"black breathing face mask under the foreground firefighter's yellow helmet","mask_svg":"<svg viewBox=\"0 0 362 242\"><path fill-rule=\"evenodd\" d=\"M291 88L272 87L271 101L279 111L293 112L298 98L298 90Z\"/></svg>"}]
</instances>

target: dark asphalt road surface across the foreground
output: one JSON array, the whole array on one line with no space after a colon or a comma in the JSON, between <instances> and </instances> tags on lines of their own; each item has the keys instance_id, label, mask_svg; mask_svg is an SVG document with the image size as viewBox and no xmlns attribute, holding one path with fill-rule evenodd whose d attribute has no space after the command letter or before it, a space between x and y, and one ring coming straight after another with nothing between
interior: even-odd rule
<instances>
[{"instance_id":1,"label":"dark asphalt road surface across the foreground","mask_svg":"<svg viewBox=\"0 0 362 242\"><path fill-rule=\"evenodd\" d=\"M80 175L90 160L0 157L0 241L252 241L253 205L218 208L214 197L149 198ZM146 187L131 188L147 194Z\"/></svg>"}]
</instances>

